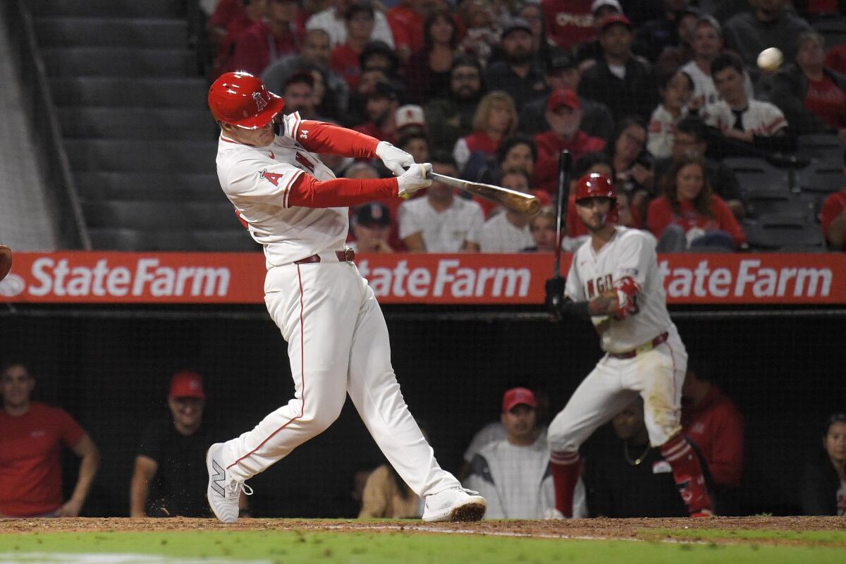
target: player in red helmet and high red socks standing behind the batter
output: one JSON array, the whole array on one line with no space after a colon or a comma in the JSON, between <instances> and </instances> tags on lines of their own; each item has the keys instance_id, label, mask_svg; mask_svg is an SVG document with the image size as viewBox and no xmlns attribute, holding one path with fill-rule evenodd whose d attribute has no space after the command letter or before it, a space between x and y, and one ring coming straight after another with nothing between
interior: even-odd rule
<instances>
[{"instance_id":1,"label":"player in red helmet and high red socks standing behind the batter","mask_svg":"<svg viewBox=\"0 0 846 564\"><path fill-rule=\"evenodd\" d=\"M611 178L586 174L575 190L576 211L591 238L573 255L566 282L548 282L547 304L554 304L558 319L590 317L606 354L549 425L556 509L573 515L581 444L640 394L651 445L673 468L691 517L709 517L702 468L681 435L687 352L667 313L654 244L640 230L616 225Z\"/></svg>"}]
</instances>

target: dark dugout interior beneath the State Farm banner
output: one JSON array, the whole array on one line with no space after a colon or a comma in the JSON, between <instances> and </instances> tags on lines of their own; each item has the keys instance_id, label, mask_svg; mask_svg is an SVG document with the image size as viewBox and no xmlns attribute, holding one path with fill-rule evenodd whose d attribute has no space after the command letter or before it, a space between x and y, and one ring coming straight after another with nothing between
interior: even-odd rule
<instances>
[{"instance_id":1,"label":"dark dugout interior beneath the State Farm banner","mask_svg":"<svg viewBox=\"0 0 846 564\"><path fill-rule=\"evenodd\" d=\"M293 394L286 345L261 316L82 314L3 316L0 338L3 358L31 364L36 399L66 408L101 447L86 515L128 514L135 445L148 421L169 417L165 396L174 371L205 376L206 420L227 438ZM387 319L405 401L452 471L475 431L498 418L505 389L541 389L552 415L600 357L595 332L577 321L420 320L390 309ZM827 413L846 409L846 382L835 361L842 356L843 317L682 314L676 324L690 353L707 359L706 376L744 413L739 512L796 512L801 462L820 445ZM76 464L73 457L66 462L72 485ZM255 515L352 517L354 471L381 462L348 402L327 432L250 480Z\"/></svg>"}]
</instances>

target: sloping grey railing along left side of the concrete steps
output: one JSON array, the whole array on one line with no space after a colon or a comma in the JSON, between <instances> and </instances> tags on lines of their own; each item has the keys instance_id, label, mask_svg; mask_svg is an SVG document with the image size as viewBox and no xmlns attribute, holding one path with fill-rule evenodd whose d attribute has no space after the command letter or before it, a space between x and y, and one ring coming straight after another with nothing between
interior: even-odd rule
<instances>
[{"instance_id":1,"label":"sloping grey railing along left side of the concrete steps","mask_svg":"<svg viewBox=\"0 0 846 564\"><path fill-rule=\"evenodd\" d=\"M37 160L50 196L49 212L53 225L58 227L58 237L63 248L90 250L91 238L85 227L79 192L64 150L47 72L36 42L32 16L24 3L25 0L8 0L0 4L5 8L9 41L16 56L14 64L18 71L21 103L26 118L36 145L54 156Z\"/></svg>"}]
</instances>

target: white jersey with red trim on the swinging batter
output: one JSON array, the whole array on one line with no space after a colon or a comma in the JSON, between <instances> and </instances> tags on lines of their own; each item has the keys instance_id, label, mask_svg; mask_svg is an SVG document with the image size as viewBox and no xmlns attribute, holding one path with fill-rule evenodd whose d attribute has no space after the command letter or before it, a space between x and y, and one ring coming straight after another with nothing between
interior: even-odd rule
<instances>
[{"instance_id":1,"label":"white jersey with red trim on the swinging batter","mask_svg":"<svg viewBox=\"0 0 846 564\"><path fill-rule=\"evenodd\" d=\"M267 267L282 266L323 250L343 249L349 231L346 207L288 205L294 181L303 172L317 180L335 178L315 154L294 140L308 136L299 113L283 118L284 132L271 145L253 147L221 134L217 177L250 235L264 246Z\"/></svg>"}]
</instances>

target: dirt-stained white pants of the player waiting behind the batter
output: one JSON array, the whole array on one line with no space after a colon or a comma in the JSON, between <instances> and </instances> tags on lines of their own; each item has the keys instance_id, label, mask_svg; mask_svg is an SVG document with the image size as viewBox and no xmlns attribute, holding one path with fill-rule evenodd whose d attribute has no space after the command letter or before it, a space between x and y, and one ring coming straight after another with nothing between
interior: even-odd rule
<instances>
[{"instance_id":1,"label":"dirt-stained white pants of the player waiting behind the batter","mask_svg":"<svg viewBox=\"0 0 846 564\"><path fill-rule=\"evenodd\" d=\"M675 326L666 342L631 359L604 356L552 419L547 441L552 452L578 452L602 424L629 402L643 397L644 422L652 446L681 430L681 396L687 351Z\"/></svg>"}]
</instances>

